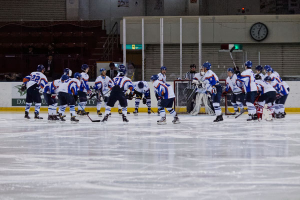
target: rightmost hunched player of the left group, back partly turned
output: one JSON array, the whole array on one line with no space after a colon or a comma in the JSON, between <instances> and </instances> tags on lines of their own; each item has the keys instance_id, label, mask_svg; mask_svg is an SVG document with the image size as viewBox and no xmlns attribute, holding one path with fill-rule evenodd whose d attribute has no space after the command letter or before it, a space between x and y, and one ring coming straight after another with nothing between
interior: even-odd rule
<instances>
[{"instance_id":1,"label":"rightmost hunched player of the left group, back partly turned","mask_svg":"<svg viewBox=\"0 0 300 200\"><path fill-rule=\"evenodd\" d=\"M73 78L68 78L64 80L59 86L58 99L59 99L59 109L58 116L61 121L65 121L63 118L66 106L70 107L71 122L78 122L79 120L75 118L75 99L73 95L78 94L78 89L80 87L81 74L74 73Z\"/></svg>"}]
</instances>

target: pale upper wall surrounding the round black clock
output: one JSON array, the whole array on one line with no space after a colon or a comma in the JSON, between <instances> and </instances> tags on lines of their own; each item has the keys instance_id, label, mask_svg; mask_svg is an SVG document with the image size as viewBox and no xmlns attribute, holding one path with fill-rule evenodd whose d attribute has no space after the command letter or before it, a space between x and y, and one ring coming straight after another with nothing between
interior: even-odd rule
<instances>
[{"instance_id":1,"label":"pale upper wall surrounding the round black clock","mask_svg":"<svg viewBox=\"0 0 300 200\"><path fill-rule=\"evenodd\" d=\"M203 43L252 43L250 27L256 22L268 28L260 43L300 42L300 15L201 16ZM141 18L126 18L126 43L141 43ZM145 43L160 43L159 16L144 17ZM182 16L182 42L198 42L198 17ZM120 21L122 35L122 21ZM130 34L128 34L130 32ZM179 43L179 17L164 17L164 43ZM122 36L121 36L122 43Z\"/></svg>"}]
</instances>

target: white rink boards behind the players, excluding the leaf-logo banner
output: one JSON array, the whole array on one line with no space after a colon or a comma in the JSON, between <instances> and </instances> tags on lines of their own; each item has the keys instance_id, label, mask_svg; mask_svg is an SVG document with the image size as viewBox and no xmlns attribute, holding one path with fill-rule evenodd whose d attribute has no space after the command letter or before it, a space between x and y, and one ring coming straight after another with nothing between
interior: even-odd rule
<instances>
[{"instance_id":1,"label":"white rink boards behind the players, excluding the leaf-logo banner","mask_svg":"<svg viewBox=\"0 0 300 200\"><path fill-rule=\"evenodd\" d=\"M300 107L300 81L286 81L290 88L290 93L288 94L287 100L285 102L285 107ZM153 86L151 82L148 82L151 91L151 107L157 106L157 100L154 95ZM173 87L172 81L167 81ZM0 107L11 107L11 98L14 96L20 96L16 88L12 88L14 85L21 85L22 82L0 82ZM94 82L89 82L89 85L94 85ZM23 96L25 98L25 96ZM134 107L134 100L128 101L128 107ZM139 107L146 107L145 104L140 103Z\"/></svg>"}]
</instances>

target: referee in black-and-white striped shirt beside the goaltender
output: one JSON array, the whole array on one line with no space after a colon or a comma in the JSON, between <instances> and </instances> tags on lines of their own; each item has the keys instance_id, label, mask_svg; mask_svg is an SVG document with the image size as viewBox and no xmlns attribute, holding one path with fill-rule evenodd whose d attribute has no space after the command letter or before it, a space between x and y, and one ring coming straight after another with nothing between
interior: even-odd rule
<instances>
[{"instance_id":1,"label":"referee in black-and-white striped shirt beside the goaltender","mask_svg":"<svg viewBox=\"0 0 300 200\"><path fill-rule=\"evenodd\" d=\"M192 80L193 77L195 76L195 74L197 73L196 72L196 65L195 64L191 64L189 67L190 67L190 70L187 71L186 74L185 74L185 76L184 76L184 79L186 79L186 80ZM192 104L193 104L193 99L194 99L194 95L195 95L195 92L193 92L194 88L195 88L195 86L191 85L191 81L187 83L186 91L188 93L189 98L186 99L186 111L188 113L193 108Z\"/></svg>"}]
</instances>

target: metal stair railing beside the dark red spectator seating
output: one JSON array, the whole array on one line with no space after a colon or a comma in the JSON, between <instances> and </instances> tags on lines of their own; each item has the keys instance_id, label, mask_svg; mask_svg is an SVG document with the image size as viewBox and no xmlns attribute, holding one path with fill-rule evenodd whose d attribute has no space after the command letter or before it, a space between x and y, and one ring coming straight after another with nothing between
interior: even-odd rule
<instances>
[{"instance_id":1,"label":"metal stair railing beside the dark red spectator seating","mask_svg":"<svg viewBox=\"0 0 300 200\"><path fill-rule=\"evenodd\" d=\"M111 60L113 58L113 48L116 43L118 47L117 22L115 22L103 44L103 60Z\"/></svg>"}]
</instances>

